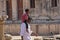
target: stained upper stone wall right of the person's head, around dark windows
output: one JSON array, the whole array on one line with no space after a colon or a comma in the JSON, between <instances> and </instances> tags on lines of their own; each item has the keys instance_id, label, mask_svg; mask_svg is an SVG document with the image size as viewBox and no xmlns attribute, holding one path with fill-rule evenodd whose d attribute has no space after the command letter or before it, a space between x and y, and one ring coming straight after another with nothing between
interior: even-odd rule
<instances>
[{"instance_id":1,"label":"stained upper stone wall right of the person's head, around dark windows","mask_svg":"<svg viewBox=\"0 0 60 40\"><path fill-rule=\"evenodd\" d=\"M60 1L57 1L57 5L57 7L51 7L51 0L35 0L35 8L30 8L31 16L40 18L48 15L53 19L60 19Z\"/></svg>"}]
</instances>

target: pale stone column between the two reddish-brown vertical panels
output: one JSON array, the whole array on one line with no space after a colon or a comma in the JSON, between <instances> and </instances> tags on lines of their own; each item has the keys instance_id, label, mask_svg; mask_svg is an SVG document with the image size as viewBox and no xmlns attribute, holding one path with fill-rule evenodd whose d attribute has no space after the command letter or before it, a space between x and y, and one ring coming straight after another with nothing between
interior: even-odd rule
<instances>
[{"instance_id":1,"label":"pale stone column between the two reddish-brown vertical panels","mask_svg":"<svg viewBox=\"0 0 60 40\"><path fill-rule=\"evenodd\" d=\"M17 20L17 0L12 0L12 20Z\"/></svg>"}]
</instances>

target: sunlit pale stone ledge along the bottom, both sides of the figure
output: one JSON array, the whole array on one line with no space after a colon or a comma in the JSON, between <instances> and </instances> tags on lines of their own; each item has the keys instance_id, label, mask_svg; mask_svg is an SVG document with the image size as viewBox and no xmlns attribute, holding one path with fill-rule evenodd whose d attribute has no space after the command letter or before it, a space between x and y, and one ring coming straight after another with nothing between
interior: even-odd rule
<instances>
[{"instance_id":1,"label":"sunlit pale stone ledge along the bottom, both sides of the figure","mask_svg":"<svg viewBox=\"0 0 60 40\"><path fill-rule=\"evenodd\" d=\"M6 35L5 36L6 40L21 40L21 36L12 36L10 34L5 34L5 35ZM55 40L55 38L54 36L31 36L31 40Z\"/></svg>"}]
</instances>

